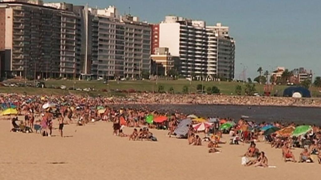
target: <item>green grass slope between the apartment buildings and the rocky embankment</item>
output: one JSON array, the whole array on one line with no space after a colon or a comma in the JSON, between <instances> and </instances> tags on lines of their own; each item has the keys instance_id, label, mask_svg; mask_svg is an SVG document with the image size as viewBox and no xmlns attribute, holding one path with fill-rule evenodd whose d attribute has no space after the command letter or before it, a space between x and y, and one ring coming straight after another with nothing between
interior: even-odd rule
<instances>
[{"instance_id":1,"label":"green grass slope between the apartment buildings and the rocky embankment","mask_svg":"<svg viewBox=\"0 0 321 180\"><path fill-rule=\"evenodd\" d=\"M151 81L151 80L143 80L143 81L109 81L108 84L104 84L101 81L74 81L72 80L48 80L45 81L46 89L41 88L18 88L18 87L0 87L0 92L2 93L24 93L27 94L89 94L89 95L111 95L110 93L102 92L103 89L109 90L128 90L134 89L136 91L158 91L158 86L164 86L165 91L169 91L170 87L173 87L175 93L181 93L183 86L188 86L190 93L196 93L196 86L198 84L202 84L200 81L187 81L185 79L180 80L159 80ZM61 85L65 85L67 88L73 87L74 88L95 88L97 92L83 92L83 91L68 91L68 90L60 90L60 89L53 89L49 87L60 87ZM217 86L222 94L230 95L235 94L235 86L240 85L242 86L242 94L244 94L245 85L243 83L238 82L204 82L205 90L206 87ZM256 84L256 92L259 94L263 94L264 85ZM287 86L274 86L273 91L271 94L279 94L282 95L283 90ZM311 88L312 95L314 97L320 96L317 88ZM119 95L119 94L118 94Z\"/></svg>"}]
</instances>

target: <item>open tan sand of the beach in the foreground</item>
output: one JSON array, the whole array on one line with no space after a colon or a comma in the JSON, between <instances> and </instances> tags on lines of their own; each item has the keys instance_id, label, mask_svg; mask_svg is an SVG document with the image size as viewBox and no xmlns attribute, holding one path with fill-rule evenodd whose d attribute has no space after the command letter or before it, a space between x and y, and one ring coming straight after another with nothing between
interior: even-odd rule
<instances>
[{"instance_id":1,"label":"open tan sand of the beach in the foreground","mask_svg":"<svg viewBox=\"0 0 321 180\"><path fill-rule=\"evenodd\" d=\"M124 131L129 134L132 128ZM167 131L151 132L158 142L128 141L112 135L111 123L95 122L84 127L65 125L64 138L57 129L54 137L42 137L10 132L10 121L1 120L0 179L319 179L321 165L284 163L281 150L269 144L257 143L257 147L276 168L244 167L240 155L248 144L224 144L222 153L209 154L205 143L189 146L187 140L166 136ZM300 151L294 150L297 159Z\"/></svg>"}]
</instances>

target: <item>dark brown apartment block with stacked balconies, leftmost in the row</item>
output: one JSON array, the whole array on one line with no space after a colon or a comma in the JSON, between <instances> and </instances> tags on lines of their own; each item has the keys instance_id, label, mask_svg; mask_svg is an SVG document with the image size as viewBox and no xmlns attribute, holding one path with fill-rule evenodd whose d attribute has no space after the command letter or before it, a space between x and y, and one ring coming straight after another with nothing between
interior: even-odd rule
<instances>
[{"instance_id":1,"label":"dark brown apartment block with stacked balconies, leftmost in the row","mask_svg":"<svg viewBox=\"0 0 321 180\"><path fill-rule=\"evenodd\" d=\"M0 3L4 15L4 71L8 76L58 77L61 13L42 1ZM2 17L3 18L3 17ZM4 33L4 34L3 34Z\"/></svg>"}]
</instances>

